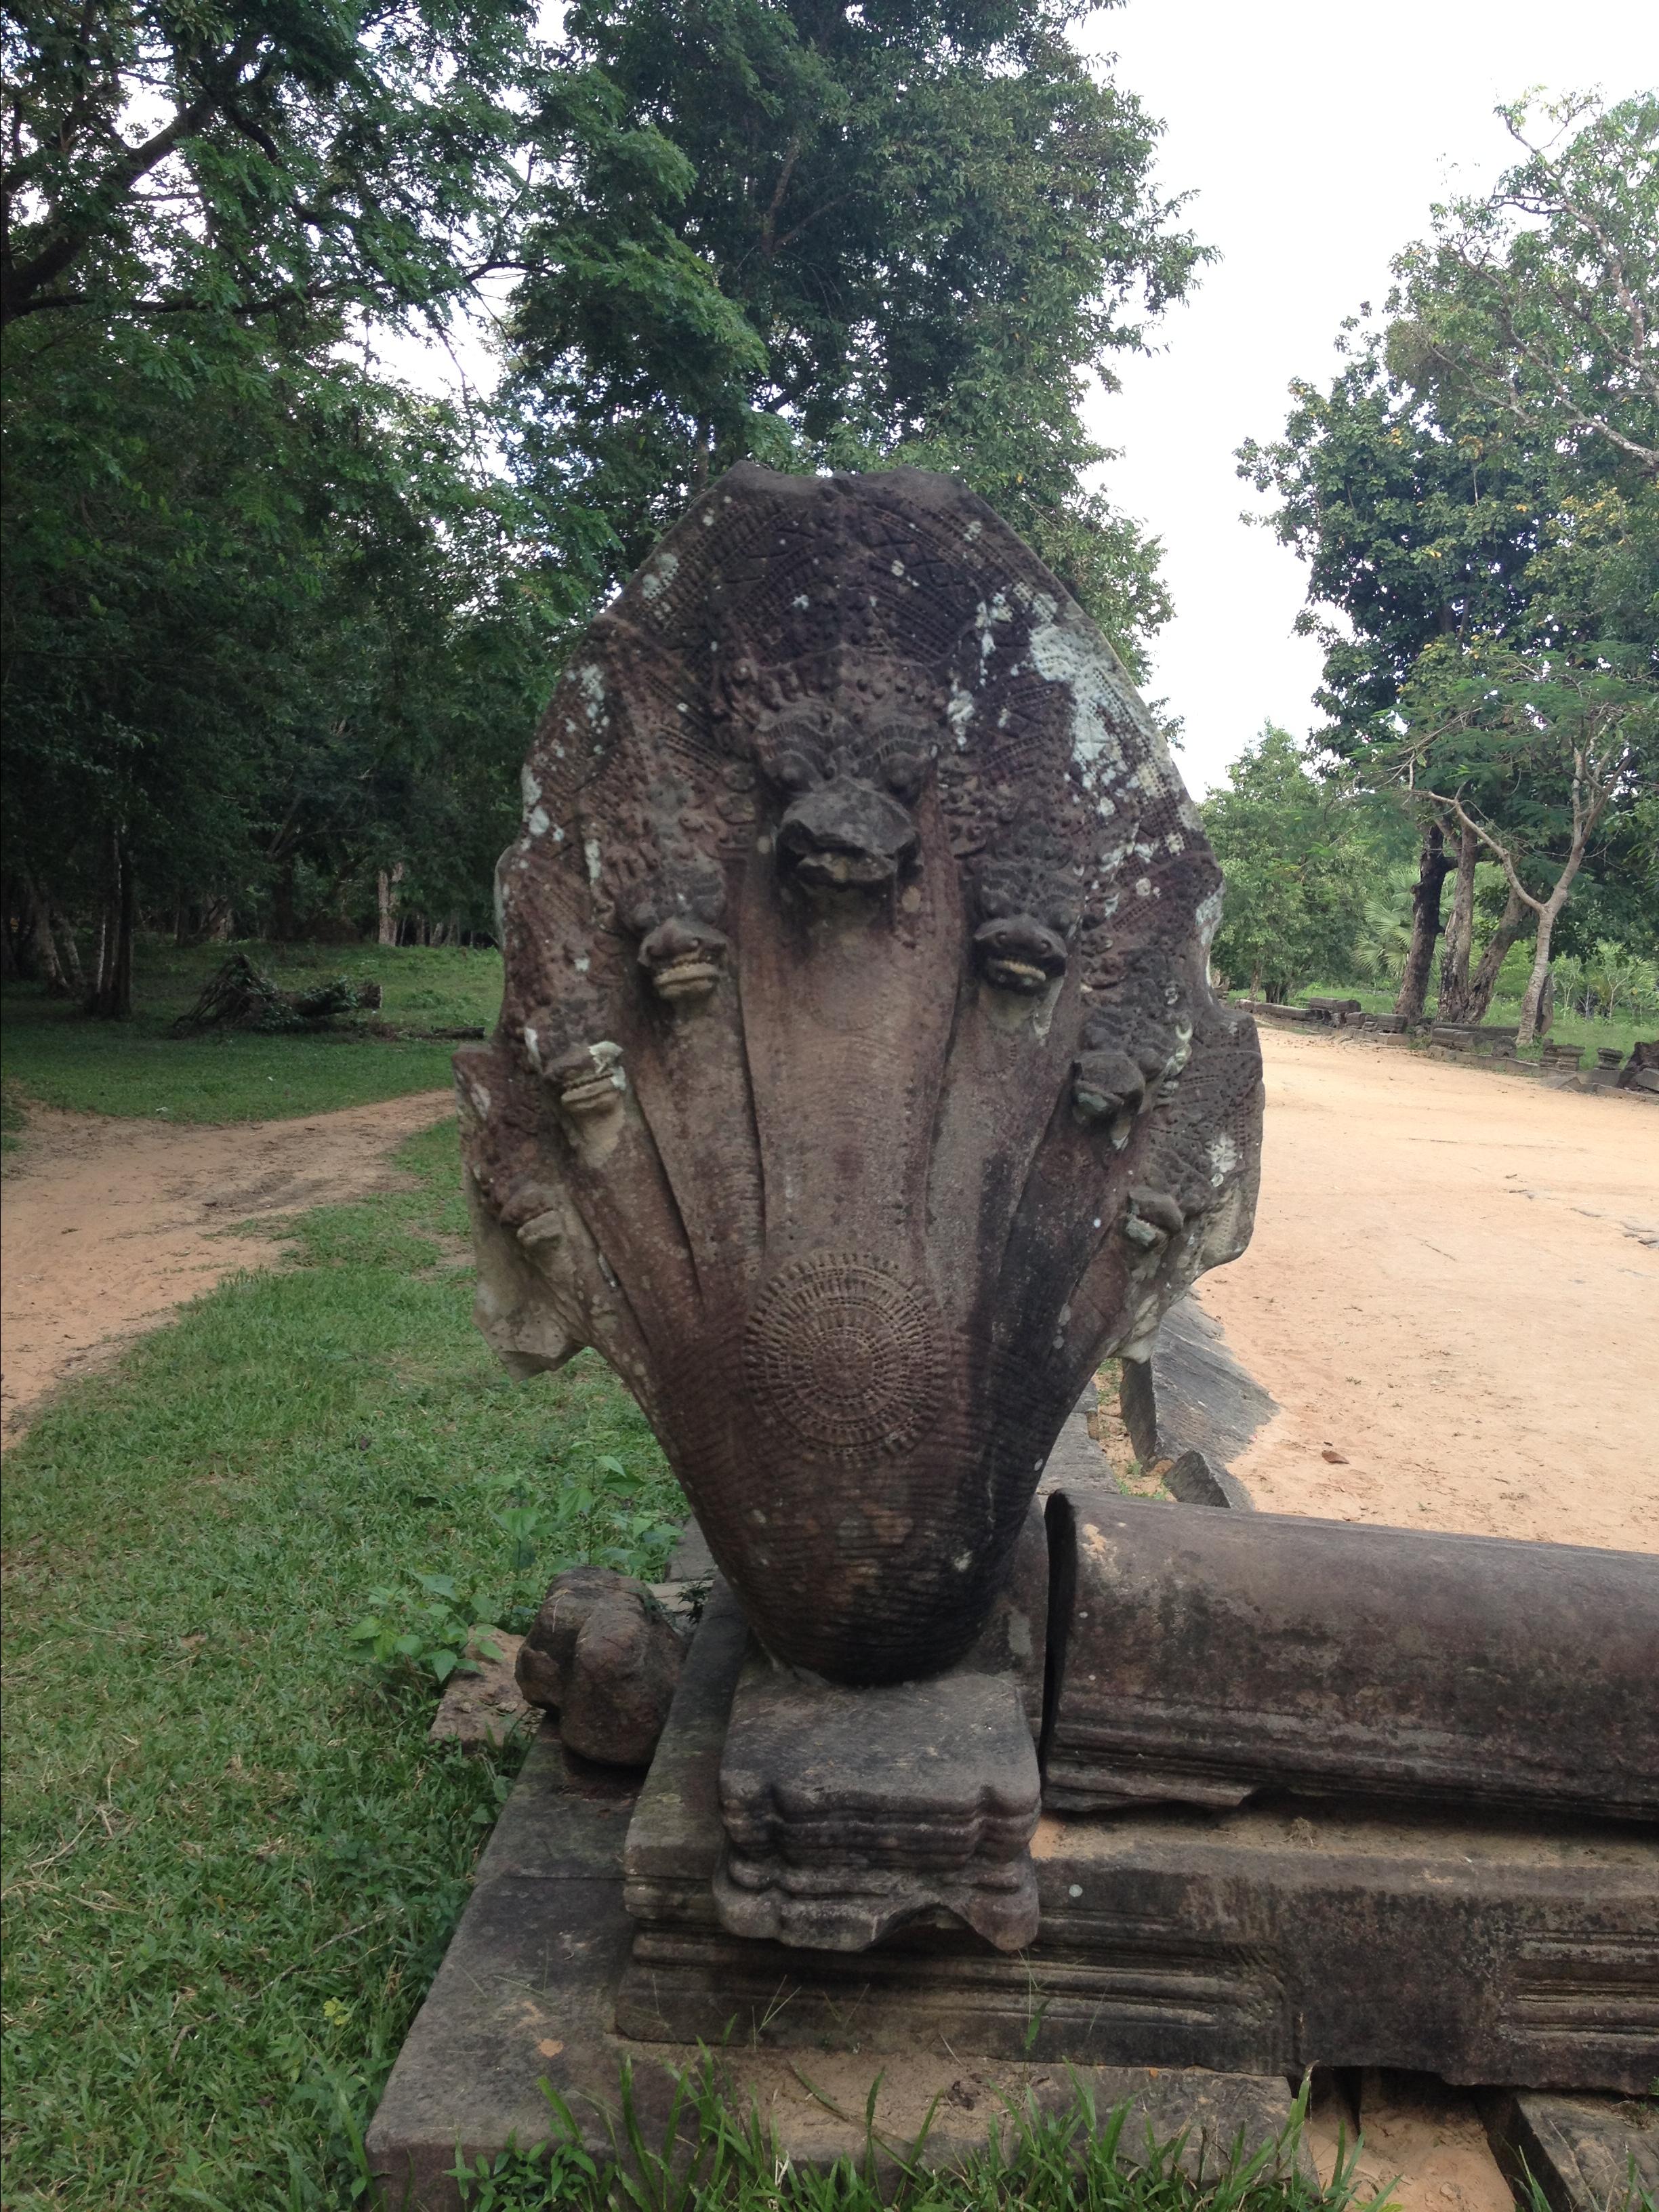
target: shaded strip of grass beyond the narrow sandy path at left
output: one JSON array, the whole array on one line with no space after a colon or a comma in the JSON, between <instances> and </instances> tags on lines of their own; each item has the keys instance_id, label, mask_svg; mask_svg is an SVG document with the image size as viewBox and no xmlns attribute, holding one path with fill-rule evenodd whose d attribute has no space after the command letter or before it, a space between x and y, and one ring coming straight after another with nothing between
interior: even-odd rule
<instances>
[{"instance_id":1,"label":"shaded strip of grass beyond the narrow sandy path at left","mask_svg":"<svg viewBox=\"0 0 1659 2212\"><path fill-rule=\"evenodd\" d=\"M168 1121L265 1121L367 1106L409 1091L449 1084L453 1042L376 1037L389 1029L493 1029L502 962L491 949L414 945L250 945L257 967L294 989L327 975L374 980L378 1015L347 1018L325 1031L254 1035L230 1031L170 1037L173 1020L195 1004L230 947L177 951L144 938L137 949L131 1022L88 1022L38 984L15 984L0 1000L9 1093L82 1113Z\"/></svg>"}]
</instances>

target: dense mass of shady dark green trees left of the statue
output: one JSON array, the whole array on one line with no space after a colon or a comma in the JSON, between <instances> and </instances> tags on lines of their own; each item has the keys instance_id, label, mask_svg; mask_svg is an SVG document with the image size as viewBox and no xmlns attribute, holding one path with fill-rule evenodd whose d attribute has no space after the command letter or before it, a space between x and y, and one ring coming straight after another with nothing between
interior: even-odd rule
<instances>
[{"instance_id":1,"label":"dense mass of shady dark green trees left of the statue","mask_svg":"<svg viewBox=\"0 0 1659 2212\"><path fill-rule=\"evenodd\" d=\"M283 929L307 867L387 843L478 902L557 595L471 427L345 341L500 250L526 9L88 0L11 11L4 60L4 860L40 964L40 905L91 907L122 1015L142 900Z\"/></svg>"}]
</instances>

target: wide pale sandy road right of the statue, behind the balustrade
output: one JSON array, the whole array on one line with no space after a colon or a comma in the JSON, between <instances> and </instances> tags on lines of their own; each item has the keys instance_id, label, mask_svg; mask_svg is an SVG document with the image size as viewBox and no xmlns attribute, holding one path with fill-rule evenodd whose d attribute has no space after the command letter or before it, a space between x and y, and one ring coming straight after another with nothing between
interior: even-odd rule
<instances>
[{"instance_id":1,"label":"wide pale sandy road right of the statue, behind the balustrade","mask_svg":"<svg viewBox=\"0 0 1659 2212\"><path fill-rule=\"evenodd\" d=\"M1283 1409L1256 1504L1659 1551L1659 1108L1261 1046L1256 1234L1199 1287Z\"/></svg>"}]
</instances>

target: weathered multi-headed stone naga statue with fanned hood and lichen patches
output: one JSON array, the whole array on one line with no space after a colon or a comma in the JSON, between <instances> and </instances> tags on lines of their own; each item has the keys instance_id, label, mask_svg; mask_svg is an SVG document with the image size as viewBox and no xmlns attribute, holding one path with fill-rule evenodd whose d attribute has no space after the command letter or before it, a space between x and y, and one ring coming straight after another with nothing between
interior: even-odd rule
<instances>
[{"instance_id":1,"label":"weathered multi-headed stone naga statue with fanned hood and lichen patches","mask_svg":"<svg viewBox=\"0 0 1659 2212\"><path fill-rule=\"evenodd\" d=\"M1086 1378L1243 1250L1219 889L1110 646L949 478L732 469L571 655L456 1062L478 1321L604 1354L774 1659L962 1659Z\"/></svg>"}]
</instances>

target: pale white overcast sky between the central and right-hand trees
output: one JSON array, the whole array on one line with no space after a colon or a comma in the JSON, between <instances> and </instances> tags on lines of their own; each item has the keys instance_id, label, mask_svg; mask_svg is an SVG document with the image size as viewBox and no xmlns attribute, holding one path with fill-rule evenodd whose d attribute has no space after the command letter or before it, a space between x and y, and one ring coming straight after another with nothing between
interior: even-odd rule
<instances>
[{"instance_id":1,"label":"pale white overcast sky between the central and right-hand trees","mask_svg":"<svg viewBox=\"0 0 1659 2212\"><path fill-rule=\"evenodd\" d=\"M1166 546L1177 617L1146 688L1186 719L1181 770L1203 794L1263 719L1316 721L1318 646L1292 635L1303 566L1239 520L1263 502L1234 447L1283 429L1294 376L1334 374L1343 316L1380 310L1429 204L1509 166L1498 100L1659 84L1659 7L1128 0L1084 44L1117 53L1117 80L1164 117L1161 184L1197 192L1188 219L1223 254L1164 321L1164 349L1126 361L1124 392L1091 411L1121 449L1108 491Z\"/></svg>"}]
</instances>

